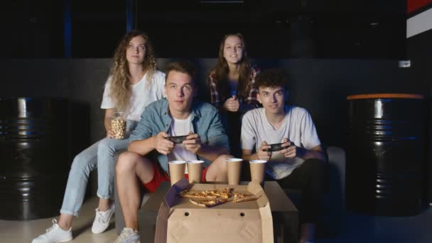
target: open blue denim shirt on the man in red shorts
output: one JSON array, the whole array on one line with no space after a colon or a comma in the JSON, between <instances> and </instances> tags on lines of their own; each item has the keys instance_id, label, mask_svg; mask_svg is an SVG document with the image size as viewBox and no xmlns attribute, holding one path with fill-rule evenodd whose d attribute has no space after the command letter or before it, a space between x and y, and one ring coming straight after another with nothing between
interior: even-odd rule
<instances>
[{"instance_id":1,"label":"open blue denim shirt on the man in red shorts","mask_svg":"<svg viewBox=\"0 0 432 243\"><path fill-rule=\"evenodd\" d=\"M210 146L224 146L229 149L228 136L220 121L217 109L205 102L192 103L192 125L195 134L200 136L203 144ZM171 125L171 116L168 110L168 100L159 99L148 104L141 114L141 121L130 136L130 141L148 139L156 136L159 132L168 132ZM157 153L157 158L161 167L168 173L168 156ZM198 159L205 161L205 167L210 166L212 161L198 156Z\"/></svg>"}]
</instances>

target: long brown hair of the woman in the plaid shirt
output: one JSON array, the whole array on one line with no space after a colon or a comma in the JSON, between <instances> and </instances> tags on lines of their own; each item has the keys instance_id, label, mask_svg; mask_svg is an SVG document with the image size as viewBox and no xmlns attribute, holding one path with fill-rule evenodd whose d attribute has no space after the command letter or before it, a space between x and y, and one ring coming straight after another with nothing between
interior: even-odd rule
<instances>
[{"instance_id":1,"label":"long brown hair of the woman in the plaid shirt","mask_svg":"<svg viewBox=\"0 0 432 243\"><path fill-rule=\"evenodd\" d=\"M252 84L250 82L251 77L251 63L249 62L249 58L247 57L246 44L244 43L244 38L241 33L230 33L222 38L219 46L219 55L217 57L216 67L212 70L215 72L215 78L217 80L217 90L220 91L220 95L222 97L229 96L229 85L228 85L228 63L224 58L224 47L225 40L229 36L237 36L242 41L243 45L243 58L240 60L240 68L239 68L239 84L237 94L240 98L246 99L249 95L249 91L252 88ZM210 84L209 84L210 85Z\"/></svg>"}]
</instances>

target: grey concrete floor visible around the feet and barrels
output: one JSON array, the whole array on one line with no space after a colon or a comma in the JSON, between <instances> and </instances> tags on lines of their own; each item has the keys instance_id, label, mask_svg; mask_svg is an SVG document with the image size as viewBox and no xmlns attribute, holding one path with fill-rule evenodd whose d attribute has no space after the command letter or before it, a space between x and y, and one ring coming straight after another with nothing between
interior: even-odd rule
<instances>
[{"instance_id":1,"label":"grey concrete floor visible around the feet and barrels","mask_svg":"<svg viewBox=\"0 0 432 243\"><path fill-rule=\"evenodd\" d=\"M87 200L82 206L80 217L75 218L72 227L74 243L114 242L114 217L107 232L92 234L97 198ZM0 242L23 243L45 232L52 218L30 221L0 220ZM432 242L432 208L412 217L374 217L347 211L345 227L334 239L318 239L317 243L342 242Z\"/></svg>"}]
</instances>

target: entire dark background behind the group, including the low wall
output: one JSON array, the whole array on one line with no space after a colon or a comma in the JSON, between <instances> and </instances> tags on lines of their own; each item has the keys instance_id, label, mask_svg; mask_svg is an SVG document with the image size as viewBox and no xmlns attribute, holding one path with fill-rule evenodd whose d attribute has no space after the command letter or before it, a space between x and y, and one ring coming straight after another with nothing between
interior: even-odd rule
<instances>
[{"instance_id":1,"label":"entire dark background behind the group, including the low wall","mask_svg":"<svg viewBox=\"0 0 432 243\"><path fill-rule=\"evenodd\" d=\"M193 60L204 91L222 36L243 33L254 63L286 71L289 102L311 112L323 144L345 148L347 95L414 92L429 103L432 96L432 31L406 39L406 0L17 0L0 9L0 97L86 104L89 115L77 119L88 121L90 142L104 136L103 85L128 23L148 33L160 68ZM77 136L88 138L82 131Z\"/></svg>"}]
</instances>

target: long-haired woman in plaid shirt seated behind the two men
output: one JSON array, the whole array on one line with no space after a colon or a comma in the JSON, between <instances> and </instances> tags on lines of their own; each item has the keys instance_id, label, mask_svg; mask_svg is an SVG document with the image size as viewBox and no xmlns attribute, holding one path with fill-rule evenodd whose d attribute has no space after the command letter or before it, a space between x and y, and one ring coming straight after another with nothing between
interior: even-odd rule
<instances>
[{"instance_id":1,"label":"long-haired woman in plaid shirt seated behind the two men","mask_svg":"<svg viewBox=\"0 0 432 243\"><path fill-rule=\"evenodd\" d=\"M216 67L210 70L207 84L210 87L211 103L222 114L222 123L231 135L229 146L234 156L241 156L239 137L242 114L259 107L253 67L241 33L228 34L222 38ZM229 126L227 126L229 124Z\"/></svg>"}]
</instances>

